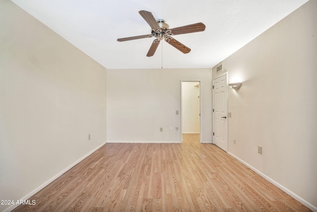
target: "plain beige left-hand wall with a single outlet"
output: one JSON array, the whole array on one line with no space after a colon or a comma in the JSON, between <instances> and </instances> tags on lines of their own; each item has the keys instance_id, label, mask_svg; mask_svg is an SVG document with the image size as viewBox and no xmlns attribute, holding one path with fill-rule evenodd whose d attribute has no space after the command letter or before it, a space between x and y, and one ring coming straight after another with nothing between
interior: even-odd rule
<instances>
[{"instance_id":1,"label":"plain beige left-hand wall with a single outlet","mask_svg":"<svg viewBox=\"0 0 317 212\"><path fill-rule=\"evenodd\" d=\"M0 0L0 200L33 194L104 142L106 69Z\"/></svg>"}]
</instances>

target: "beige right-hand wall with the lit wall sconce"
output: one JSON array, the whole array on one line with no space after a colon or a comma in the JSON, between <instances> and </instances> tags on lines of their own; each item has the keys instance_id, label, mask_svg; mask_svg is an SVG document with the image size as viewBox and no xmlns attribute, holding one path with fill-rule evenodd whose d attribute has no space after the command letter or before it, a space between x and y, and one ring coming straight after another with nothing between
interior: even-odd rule
<instances>
[{"instance_id":1,"label":"beige right-hand wall with the lit wall sconce","mask_svg":"<svg viewBox=\"0 0 317 212\"><path fill-rule=\"evenodd\" d=\"M243 83L228 87L229 152L315 210L316 22L310 0L223 61L228 83Z\"/></svg>"}]
</instances>

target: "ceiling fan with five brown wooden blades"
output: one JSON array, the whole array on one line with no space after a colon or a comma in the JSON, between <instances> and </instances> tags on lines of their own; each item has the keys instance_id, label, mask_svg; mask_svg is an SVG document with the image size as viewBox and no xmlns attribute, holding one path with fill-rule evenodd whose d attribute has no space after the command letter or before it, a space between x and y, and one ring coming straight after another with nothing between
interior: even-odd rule
<instances>
[{"instance_id":1,"label":"ceiling fan with five brown wooden blades","mask_svg":"<svg viewBox=\"0 0 317 212\"><path fill-rule=\"evenodd\" d=\"M203 23L194 23L186 26L180 26L176 28L169 29L169 25L162 19L155 20L153 14L149 11L141 10L139 11L140 15L144 18L144 20L151 26L152 32L149 35L140 35L134 37L127 38L119 38L117 41L129 41L136 40L141 38L151 38L155 37L156 39L153 41L150 50L147 54L147 57L152 57L159 46L159 42L161 40L165 40L167 43L186 54L191 51L190 48L185 46L184 44L178 42L175 38L171 37L172 35L180 35L192 32L201 32L206 29L205 24Z\"/></svg>"}]
</instances>

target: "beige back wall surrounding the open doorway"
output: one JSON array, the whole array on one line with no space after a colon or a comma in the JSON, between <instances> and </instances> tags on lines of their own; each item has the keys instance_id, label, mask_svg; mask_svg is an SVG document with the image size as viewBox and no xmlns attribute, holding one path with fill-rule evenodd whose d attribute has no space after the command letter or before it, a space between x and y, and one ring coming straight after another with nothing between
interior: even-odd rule
<instances>
[{"instance_id":1,"label":"beige back wall surrounding the open doorway","mask_svg":"<svg viewBox=\"0 0 317 212\"><path fill-rule=\"evenodd\" d=\"M201 80L202 141L211 142L211 69L108 69L107 142L180 142L180 80Z\"/></svg>"}]
</instances>

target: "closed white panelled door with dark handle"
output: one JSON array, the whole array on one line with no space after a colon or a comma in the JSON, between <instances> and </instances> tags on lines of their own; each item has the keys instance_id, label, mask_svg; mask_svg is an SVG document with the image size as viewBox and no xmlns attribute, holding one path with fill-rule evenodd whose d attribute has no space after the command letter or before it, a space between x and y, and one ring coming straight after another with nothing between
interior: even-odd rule
<instances>
[{"instance_id":1,"label":"closed white panelled door with dark handle","mask_svg":"<svg viewBox=\"0 0 317 212\"><path fill-rule=\"evenodd\" d=\"M213 79L213 143L228 151L227 75Z\"/></svg>"}]
</instances>

